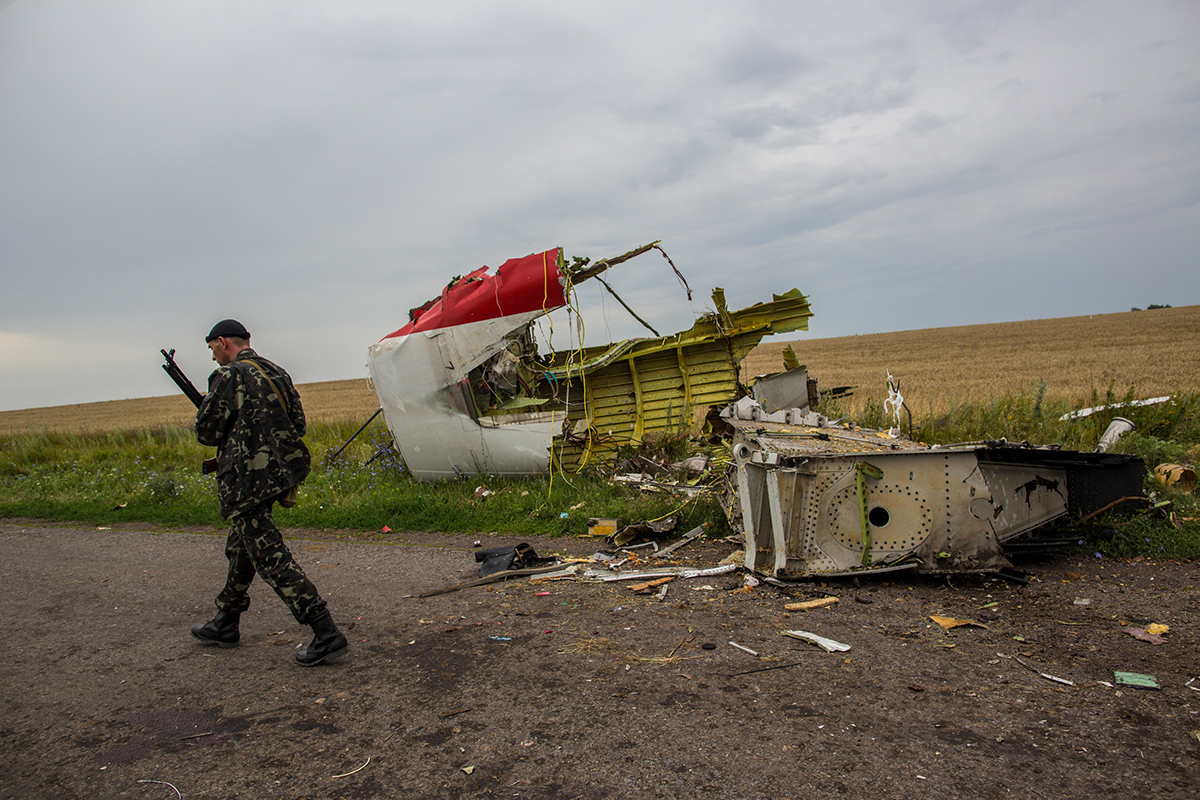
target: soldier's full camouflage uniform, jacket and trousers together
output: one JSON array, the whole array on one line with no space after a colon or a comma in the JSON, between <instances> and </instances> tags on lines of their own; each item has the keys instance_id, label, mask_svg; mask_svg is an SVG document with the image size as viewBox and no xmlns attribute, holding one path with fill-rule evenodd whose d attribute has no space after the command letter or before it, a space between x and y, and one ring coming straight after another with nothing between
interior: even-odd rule
<instances>
[{"instance_id":1,"label":"soldier's full camouflage uniform, jacket and trousers together","mask_svg":"<svg viewBox=\"0 0 1200 800\"><path fill-rule=\"evenodd\" d=\"M305 428L292 378L252 349L209 375L209 393L196 411L196 438L217 447L217 499L221 517L230 521L229 573L216 599L221 612L246 610L254 572L301 625L325 610L271 518L272 504L308 475Z\"/></svg>"}]
</instances>

